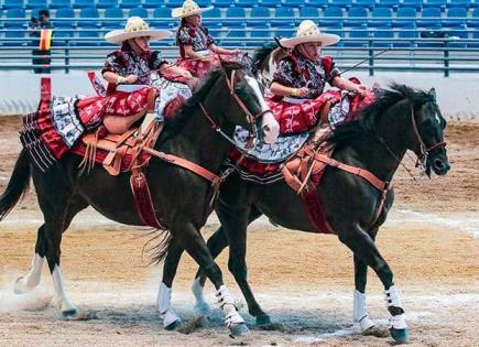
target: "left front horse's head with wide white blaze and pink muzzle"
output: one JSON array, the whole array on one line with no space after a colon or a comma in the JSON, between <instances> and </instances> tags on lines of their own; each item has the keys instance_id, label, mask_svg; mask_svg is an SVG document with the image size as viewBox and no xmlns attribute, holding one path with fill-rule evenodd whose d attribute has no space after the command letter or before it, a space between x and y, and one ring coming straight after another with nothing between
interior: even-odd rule
<instances>
[{"instance_id":1,"label":"left front horse's head with wide white blaze and pink muzzle","mask_svg":"<svg viewBox=\"0 0 479 347\"><path fill-rule=\"evenodd\" d=\"M218 72L217 72L218 73ZM215 84L215 98L230 124L249 129L260 140L272 143L280 126L264 101L257 79L239 64L222 64L221 76Z\"/></svg>"}]
</instances>

